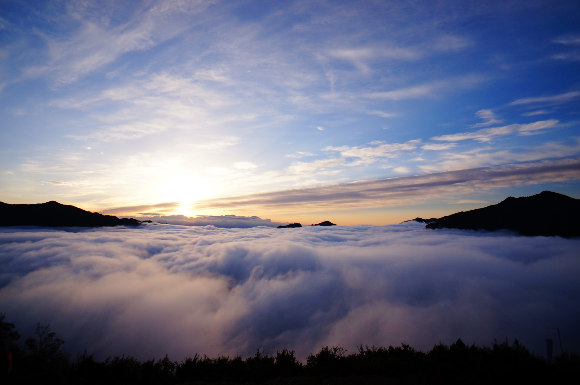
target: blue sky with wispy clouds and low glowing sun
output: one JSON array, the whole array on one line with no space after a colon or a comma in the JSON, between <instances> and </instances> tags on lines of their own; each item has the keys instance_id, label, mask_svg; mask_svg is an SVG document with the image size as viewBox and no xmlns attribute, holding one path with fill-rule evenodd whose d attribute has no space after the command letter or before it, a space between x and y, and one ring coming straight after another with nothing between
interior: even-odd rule
<instances>
[{"instance_id":1,"label":"blue sky with wispy clouds and low glowing sun","mask_svg":"<svg viewBox=\"0 0 580 385\"><path fill-rule=\"evenodd\" d=\"M577 1L3 1L0 200L385 224L580 198Z\"/></svg>"}]
</instances>

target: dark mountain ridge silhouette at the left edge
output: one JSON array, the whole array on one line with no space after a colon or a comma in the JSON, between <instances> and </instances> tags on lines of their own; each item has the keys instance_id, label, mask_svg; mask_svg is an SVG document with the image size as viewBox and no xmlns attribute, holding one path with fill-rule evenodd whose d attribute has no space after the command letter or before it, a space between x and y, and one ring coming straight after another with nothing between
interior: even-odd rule
<instances>
[{"instance_id":1,"label":"dark mountain ridge silhouette at the left edge","mask_svg":"<svg viewBox=\"0 0 580 385\"><path fill-rule=\"evenodd\" d=\"M133 218L92 213L71 205L50 201L32 205L10 205L0 202L0 226L137 226Z\"/></svg>"}]
</instances>

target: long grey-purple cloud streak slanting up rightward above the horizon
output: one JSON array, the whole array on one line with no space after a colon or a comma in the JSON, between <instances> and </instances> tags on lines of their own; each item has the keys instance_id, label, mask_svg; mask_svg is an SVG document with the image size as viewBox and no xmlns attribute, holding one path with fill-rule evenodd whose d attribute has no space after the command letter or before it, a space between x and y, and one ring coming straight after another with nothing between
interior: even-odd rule
<instances>
[{"instance_id":1,"label":"long grey-purple cloud streak slanting up rightward above the horizon","mask_svg":"<svg viewBox=\"0 0 580 385\"><path fill-rule=\"evenodd\" d=\"M580 180L579 170L580 158L567 158L208 199L197 202L196 206L277 212L387 207L414 204L427 196L434 199L478 189Z\"/></svg>"}]
</instances>

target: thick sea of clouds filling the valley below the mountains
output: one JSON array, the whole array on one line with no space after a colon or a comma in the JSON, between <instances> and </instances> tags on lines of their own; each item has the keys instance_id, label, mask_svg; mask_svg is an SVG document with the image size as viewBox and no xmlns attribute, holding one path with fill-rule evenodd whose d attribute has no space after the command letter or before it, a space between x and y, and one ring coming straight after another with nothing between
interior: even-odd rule
<instances>
[{"instance_id":1,"label":"thick sea of clouds filling the valley below the mountains","mask_svg":"<svg viewBox=\"0 0 580 385\"><path fill-rule=\"evenodd\" d=\"M579 350L580 239L424 226L2 228L0 312L97 359L460 337L543 354L548 327Z\"/></svg>"}]
</instances>

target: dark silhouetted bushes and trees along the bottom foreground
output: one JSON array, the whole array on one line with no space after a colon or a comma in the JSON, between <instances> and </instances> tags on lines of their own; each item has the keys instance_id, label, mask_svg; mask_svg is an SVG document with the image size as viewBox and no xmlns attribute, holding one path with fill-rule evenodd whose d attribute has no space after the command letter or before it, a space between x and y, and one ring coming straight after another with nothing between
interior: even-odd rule
<instances>
[{"instance_id":1,"label":"dark silhouetted bushes and trees along the bottom foreground","mask_svg":"<svg viewBox=\"0 0 580 385\"><path fill-rule=\"evenodd\" d=\"M131 356L95 361L92 354L71 359L63 339L49 326L38 325L35 337L19 344L20 333L0 313L0 383L6 384L356 384L356 383L578 383L580 357L563 354L553 364L531 354L518 340L491 347L468 346L457 340L451 346L438 344L423 353L408 344L389 347L360 346L347 354L342 347L322 347L298 361L293 350L276 355L259 350L252 357L195 354L183 361L161 359L139 361ZM12 371L8 352L12 352Z\"/></svg>"}]
</instances>

